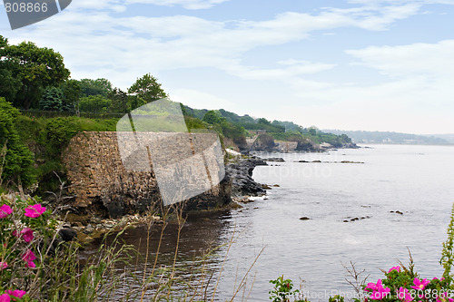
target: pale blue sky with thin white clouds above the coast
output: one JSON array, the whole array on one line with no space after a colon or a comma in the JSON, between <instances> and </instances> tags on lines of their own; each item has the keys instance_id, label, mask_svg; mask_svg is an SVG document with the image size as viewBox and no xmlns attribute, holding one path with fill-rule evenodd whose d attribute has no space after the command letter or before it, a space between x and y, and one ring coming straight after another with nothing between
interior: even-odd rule
<instances>
[{"instance_id":1,"label":"pale blue sky with thin white clouds above the coast","mask_svg":"<svg viewBox=\"0 0 454 302\"><path fill-rule=\"evenodd\" d=\"M73 79L320 129L454 133L454 0L73 0L0 34Z\"/></svg>"}]
</instances>

